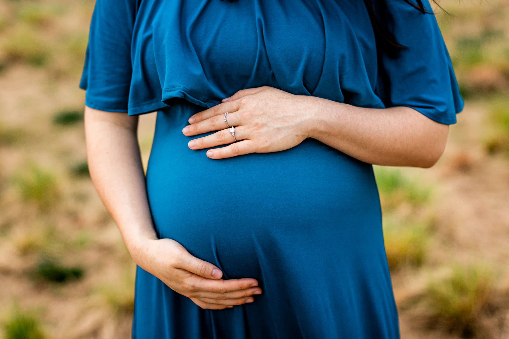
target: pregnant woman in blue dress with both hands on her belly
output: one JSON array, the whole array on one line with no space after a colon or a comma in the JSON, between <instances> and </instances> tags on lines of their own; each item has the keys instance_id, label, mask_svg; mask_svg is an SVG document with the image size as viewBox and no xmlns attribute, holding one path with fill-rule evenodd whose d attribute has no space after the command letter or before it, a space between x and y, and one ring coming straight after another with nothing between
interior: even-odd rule
<instances>
[{"instance_id":1,"label":"pregnant woman in blue dress with both hands on her belly","mask_svg":"<svg viewBox=\"0 0 509 339\"><path fill-rule=\"evenodd\" d=\"M97 0L80 87L133 338L399 338L372 164L463 108L428 0Z\"/></svg>"}]
</instances>

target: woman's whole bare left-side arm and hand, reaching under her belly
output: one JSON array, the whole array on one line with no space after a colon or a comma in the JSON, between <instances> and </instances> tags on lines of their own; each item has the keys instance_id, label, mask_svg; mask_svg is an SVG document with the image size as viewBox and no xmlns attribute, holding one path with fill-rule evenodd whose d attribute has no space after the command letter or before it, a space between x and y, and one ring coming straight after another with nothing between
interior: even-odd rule
<instances>
[{"instance_id":1,"label":"woman's whole bare left-side arm and hand, reaching under her belly","mask_svg":"<svg viewBox=\"0 0 509 339\"><path fill-rule=\"evenodd\" d=\"M242 304L261 291L254 287L255 279L220 279L217 266L192 256L175 240L157 238L137 141L137 116L86 107L84 120L92 181L137 265L203 309Z\"/></svg>"}]
</instances>

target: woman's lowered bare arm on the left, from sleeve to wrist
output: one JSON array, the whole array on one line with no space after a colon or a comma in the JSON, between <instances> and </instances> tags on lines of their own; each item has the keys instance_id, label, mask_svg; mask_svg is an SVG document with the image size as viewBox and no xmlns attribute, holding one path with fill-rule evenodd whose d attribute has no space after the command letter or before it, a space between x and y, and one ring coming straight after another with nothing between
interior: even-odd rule
<instances>
[{"instance_id":1,"label":"woman's lowered bare arm on the left, from sleeve to wrist","mask_svg":"<svg viewBox=\"0 0 509 339\"><path fill-rule=\"evenodd\" d=\"M90 175L131 255L140 240L155 240L137 141L138 117L86 107Z\"/></svg>"}]
</instances>

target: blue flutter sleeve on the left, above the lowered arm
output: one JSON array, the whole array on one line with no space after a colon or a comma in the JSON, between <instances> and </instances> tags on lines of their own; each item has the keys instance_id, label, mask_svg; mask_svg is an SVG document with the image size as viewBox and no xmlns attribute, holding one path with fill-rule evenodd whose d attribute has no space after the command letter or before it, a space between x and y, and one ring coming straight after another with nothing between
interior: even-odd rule
<instances>
[{"instance_id":1,"label":"blue flutter sleeve on the left, above the lowered arm","mask_svg":"<svg viewBox=\"0 0 509 339\"><path fill-rule=\"evenodd\" d=\"M136 0L97 0L79 87L91 108L127 112Z\"/></svg>"}]
</instances>

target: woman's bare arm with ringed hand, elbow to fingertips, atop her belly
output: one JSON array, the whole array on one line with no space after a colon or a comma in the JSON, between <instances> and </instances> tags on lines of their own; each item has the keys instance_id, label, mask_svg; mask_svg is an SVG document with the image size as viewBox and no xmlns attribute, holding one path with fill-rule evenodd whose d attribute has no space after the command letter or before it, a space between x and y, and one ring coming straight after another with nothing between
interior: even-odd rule
<instances>
[{"instance_id":1,"label":"woman's bare arm with ringed hand, elbow to fingertips, atop her belly","mask_svg":"<svg viewBox=\"0 0 509 339\"><path fill-rule=\"evenodd\" d=\"M224 112L238 142L231 143ZM442 155L448 133L448 125L410 107L361 108L268 86L240 90L189 122L188 136L220 130L190 140L191 149L231 143L207 151L212 159L284 150L310 137L366 163L428 168Z\"/></svg>"}]
</instances>

